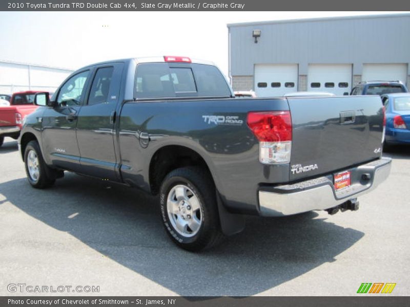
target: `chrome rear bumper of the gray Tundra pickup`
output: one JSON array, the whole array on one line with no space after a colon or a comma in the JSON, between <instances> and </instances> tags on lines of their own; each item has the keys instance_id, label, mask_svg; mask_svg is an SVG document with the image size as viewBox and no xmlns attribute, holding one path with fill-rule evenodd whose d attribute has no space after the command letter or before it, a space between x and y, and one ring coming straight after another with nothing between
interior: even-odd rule
<instances>
[{"instance_id":1,"label":"chrome rear bumper of the gray Tundra pickup","mask_svg":"<svg viewBox=\"0 0 410 307\"><path fill-rule=\"evenodd\" d=\"M296 184L275 187L261 187L259 190L259 209L263 216L284 216L312 210L336 207L348 200L357 198L375 189L389 175L392 159L379 160L350 168L352 184L336 191L333 177L325 176ZM364 174L370 179L362 178Z\"/></svg>"}]
</instances>

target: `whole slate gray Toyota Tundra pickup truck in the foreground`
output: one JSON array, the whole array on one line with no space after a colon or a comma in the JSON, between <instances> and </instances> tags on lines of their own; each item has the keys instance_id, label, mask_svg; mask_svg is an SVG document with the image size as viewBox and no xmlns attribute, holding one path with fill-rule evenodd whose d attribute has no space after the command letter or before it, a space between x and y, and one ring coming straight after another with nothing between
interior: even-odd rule
<instances>
[{"instance_id":1,"label":"whole slate gray Toyota Tundra pickup truck in the foreground","mask_svg":"<svg viewBox=\"0 0 410 307\"><path fill-rule=\"evenodd\" d=\"M243 230L244 214L357 210L384 181L378 96L235 99L210 62L133 58L84 67L25 119L29 183L73 171L158 195L178 246Z\"/></svg>"}]
</instances>

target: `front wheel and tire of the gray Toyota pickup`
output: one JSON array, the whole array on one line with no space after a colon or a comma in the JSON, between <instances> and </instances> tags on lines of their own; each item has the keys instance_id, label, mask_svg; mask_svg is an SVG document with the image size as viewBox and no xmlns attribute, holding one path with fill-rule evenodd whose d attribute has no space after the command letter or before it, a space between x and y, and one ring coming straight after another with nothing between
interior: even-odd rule
<instances>
[{"instance_id":1,"label":"front wheel and tire of the gray Toyota pickup","mask_svg":"<svg viewBox=\"0 0 410 307\"><path fill-rule=\"evenodd\" d=\"M27 180L37 189L44 189L54 184L55 178L49 177L53 169L46 165L40 146L37 141L30 141L24 151L24 165L26 167Z\"/></svg>"}]
</instances>

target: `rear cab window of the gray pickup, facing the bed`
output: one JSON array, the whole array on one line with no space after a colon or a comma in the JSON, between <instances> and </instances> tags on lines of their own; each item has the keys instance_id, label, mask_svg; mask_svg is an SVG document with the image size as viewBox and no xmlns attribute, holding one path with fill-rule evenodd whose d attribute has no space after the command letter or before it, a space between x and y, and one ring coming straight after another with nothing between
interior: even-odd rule
<instances>
[{"instance_id":1,"label":"rear cab window of the gray pickup, facing the bed","mask_svg":"<svg viewBox=\"0 0 410 307\"><path fill-rule=\"evenodd\" d=\"M174 67L175 66L175 67ZM230 97L227 81L212 65L141 63L135 80L137 98Z\"/></svg>"}]
</instances>

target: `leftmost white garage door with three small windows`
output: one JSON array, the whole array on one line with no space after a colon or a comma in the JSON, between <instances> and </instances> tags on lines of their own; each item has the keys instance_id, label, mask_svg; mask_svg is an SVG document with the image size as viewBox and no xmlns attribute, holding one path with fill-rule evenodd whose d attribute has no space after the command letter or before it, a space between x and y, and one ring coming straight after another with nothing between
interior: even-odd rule
<instances>
[{"instance_id":1,"label":"leftmost white garage door with three small windows","mask_svg":"<svg viewBox=\"0 0 410 307\"><path fill-rule=\"evenodd\" d=\"M258 97L278 97L298 91L297 64L255 64Z\"/></svg>"}]
</instances>

